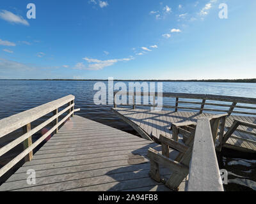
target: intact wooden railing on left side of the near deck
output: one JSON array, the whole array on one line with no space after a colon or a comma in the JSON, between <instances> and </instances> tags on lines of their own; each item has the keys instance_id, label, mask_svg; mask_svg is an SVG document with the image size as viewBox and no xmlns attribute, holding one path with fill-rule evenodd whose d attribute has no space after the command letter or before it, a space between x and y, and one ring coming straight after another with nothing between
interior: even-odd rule
<instances>
[{"instance_id":1,"label":"intact wooden railing on left side of the near deck","mask_svg":"<svg viewBox=\"0 0 256 204\"><path fill-rule=\"evenodd\" d=\"M44 105L37 106L25 112L21 112L16 115L12 115L10 117L0 120L0 138L2 138L5 135L8 135L9 133L12 133L13 131L19 128L22 128L24 133L24 135L19 136L12 142L1 147L0 156L3 156L3 154L10 151L11 149L13 149L22 142L24 150L18 156L14 157L12 161L5 164L3 168L0 169L0 177L3 176L4 173L10 170L15 164L17 164L23 158L25 159L25 161L31 161L33 157L33 149L35 149L35 147L37 147L41 142L43 142L45 138L51 135L51 133L58 133L58 128L61 126L61 124L63 124L63 122L65 122L67 119L70 119L70 117L74 116L74 112L79 110L74 110L74 99L75 96L68 95L55 101L45 103ZM64 108L63 110L58 112L58 109L63 105L68 106L67 108ZM42 122L42 124L36 126L36 128L31 129L31 122L51 112L54 115L50 119L47 119L45 122ZM65 112L68 112L67 115L59 122L59 117ZM31 136L34 135L37 131L40 131L40 129L50 124L51 122L54 122L54 126L51 129L49 129L47 133L45 133L38 140L36 140L35 143L32 143Z\"/></svg>"}]
</instances>

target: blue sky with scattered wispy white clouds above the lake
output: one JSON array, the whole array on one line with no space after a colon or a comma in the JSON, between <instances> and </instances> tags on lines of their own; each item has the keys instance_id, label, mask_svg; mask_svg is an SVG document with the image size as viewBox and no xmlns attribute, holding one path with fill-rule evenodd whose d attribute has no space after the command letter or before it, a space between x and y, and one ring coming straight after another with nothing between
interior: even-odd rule
<instances>
[{"instance_id":1,"label":"blue sky with scattered wispy white clouds above the lake","mask_svg":"<svg viewBox=\"0 0 256 204\"><path fill-rule=\"evenodd\" d=\"M1 0L0 78L256 78L255 8L255 0Z\"/></svg>"}]
</instances>

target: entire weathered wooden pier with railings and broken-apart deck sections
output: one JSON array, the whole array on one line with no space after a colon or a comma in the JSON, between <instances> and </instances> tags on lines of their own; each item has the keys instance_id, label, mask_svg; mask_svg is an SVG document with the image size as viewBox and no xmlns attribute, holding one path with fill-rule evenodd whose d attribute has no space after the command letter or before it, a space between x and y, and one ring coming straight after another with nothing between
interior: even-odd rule
<instances>
[{"instance_id":1,"label":"entire weathered wooden pier with railings and broken-apart deck sections","mask_svg":"<svg viewBox=\"0 0 256 204\"><path fill-rule=\"evenodd\" d=\"M24 148L4 164L0 177L25 161L0 186L0 191L223 191L215 149L256 151L256 117L250 116L256 113L235 109L256 110L255 106L237 105L255 105L256 99L176 93L164 96L176 98L175 106L168 106L174 110L136 108L139 105L135 97L132 108L120 108L116 106L115 95L113 112L142 138L74 115L79 109L74 109L72 95L0 120L0 138L17 129L23 131L23 135L1 147L0 156L6 156L19 144ZM179 98L202 101L179 101ZM154 109L156 99L153 101ZM200 107L182 107L180 103ZM210 109L205 105L225 106L228 110L216 115L207 112ZM31 126L31 122L49 113L52 113L49 119ZM52 128L33 142L33 135L49 124ZM33 149L51 134L33 155ZM30 177L31 172L35 180Z\"/></svg>"}]
</instances>

